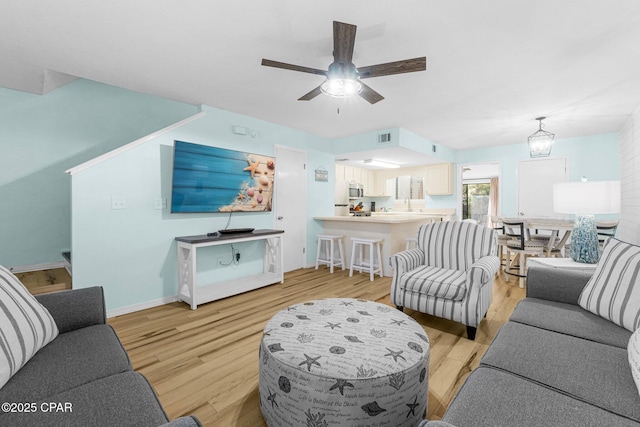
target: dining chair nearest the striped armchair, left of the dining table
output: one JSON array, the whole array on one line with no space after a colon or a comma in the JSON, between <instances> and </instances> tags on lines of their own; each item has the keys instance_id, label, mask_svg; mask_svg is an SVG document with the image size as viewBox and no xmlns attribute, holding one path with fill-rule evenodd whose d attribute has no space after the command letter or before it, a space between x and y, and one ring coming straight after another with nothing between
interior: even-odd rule
<instances>
[{"instance_id":1,"label":"dining chair nearest the striped armchair, left of the dining table","mask_svg":"<svg viewBox=\"0 0 640 427\"><path fill-rule=\"evenodd\" d=\"M503 219L502 224L504 234L508 237L504 280L508 282L510 276L516 276L519 278L519 286L524 288L527 257L544 255L546 244L544 241L531 239L526 220ZM513 259L511 254L515 255Z\"/></svg>"}]
</instances>

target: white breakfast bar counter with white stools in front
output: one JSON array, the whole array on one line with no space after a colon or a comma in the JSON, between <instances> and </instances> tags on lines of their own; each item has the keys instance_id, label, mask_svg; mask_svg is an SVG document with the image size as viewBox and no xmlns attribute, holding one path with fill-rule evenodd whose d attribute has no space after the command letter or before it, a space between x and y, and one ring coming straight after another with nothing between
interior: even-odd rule
<instances>
[{"instance_id":1,"label":"white breakfast bar counter with white stools in front","mask_svg":"<svg viewBox=\"0 0 640 427\"><path fill-rule=\"evenodd\" d=\"M373 216L322 216L324 234L341 234L345 239L346 265L351 263L351 239L354 237L382 239L382 264L385 276L392 276L389 257L405 249L407 237L417 237L423 224L442 221L438 214L381 214Z\"/></svg>"}]
</instances>

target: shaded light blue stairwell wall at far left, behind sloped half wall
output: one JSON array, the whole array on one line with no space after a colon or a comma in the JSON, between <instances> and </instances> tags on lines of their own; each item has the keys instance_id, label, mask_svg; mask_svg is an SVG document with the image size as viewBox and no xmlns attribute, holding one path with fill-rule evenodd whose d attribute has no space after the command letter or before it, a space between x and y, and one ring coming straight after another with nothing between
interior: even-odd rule
<instances>
[{"instance_id":1,"label":"shaded light blue stairwell wall at far left, behind sloped half wall","mask_svg":"<svg viewBox=\"0 0 640 427\"><path fill-rule=\"evenodd\" d=\"M82 79L42 96L0 88L0 264L61 261L71 248L65 170L196 111Z\"/></svg>"}]
</instances>

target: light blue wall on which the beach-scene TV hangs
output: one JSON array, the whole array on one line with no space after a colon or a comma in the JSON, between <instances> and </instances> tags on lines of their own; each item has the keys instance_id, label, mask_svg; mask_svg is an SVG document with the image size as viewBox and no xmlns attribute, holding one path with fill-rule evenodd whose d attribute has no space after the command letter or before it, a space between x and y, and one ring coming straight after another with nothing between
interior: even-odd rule
<instances>
[{"instance_id":1,"label":"light blue wall on which the beach-scene TV hangs","mask_svg":"<svg viewBox=\"0 0 640 427\"><path fill-rule=\"evenodd\" d=\"M314 180L314 171L319 166L333 172L333 155L313 148L326 146L329 141L212 107L203 107L203 111L206 116L72 177L73 285L103 286L108 310L175 296L178 289L174 238L224 228L229 218L228 214L171 214L168 210L154 209L156 198L170 201L176 139L265 155L273 155L276 144L307 150L308 197L300 204L306 204L308 218L333 212L333 184ZM260 136L254 139L234 135L233 125L257 130ZM127 208L112 210L112 197L124 199ZM326 203L327 200L331 203ZM290 208L295 210L297 206ZM308 220L308 225L307 247L313 247L309 245L319 230L312 220ZM274 212L231 216L231 228L274 226ZM240 266L223 267L218 261L230 261L230 248L226 245L207 248L198 257L198 280L206 283L261 271L261 243L245 243L236 249L241 252ZM315 259L315 251L307 251L307 256Z\"/></svg>"}]
</instances>

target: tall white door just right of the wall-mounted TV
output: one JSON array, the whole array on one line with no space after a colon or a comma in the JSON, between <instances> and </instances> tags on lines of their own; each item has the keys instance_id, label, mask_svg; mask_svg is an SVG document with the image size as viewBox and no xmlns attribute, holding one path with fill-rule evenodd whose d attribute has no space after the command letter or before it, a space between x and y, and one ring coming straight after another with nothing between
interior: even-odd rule
<instances>
[{"instance_id":1,"label":"tall white door just right of the wall-mounted TV","mask_svg":"<svg viewBox=\"0 0 640 427\"><path fill-rule=\"evenodd\" d=\"M306 264L307 173L304 151L276 146L275 228L284 230L284 271Z\"/></svg>"}]
</instances>

